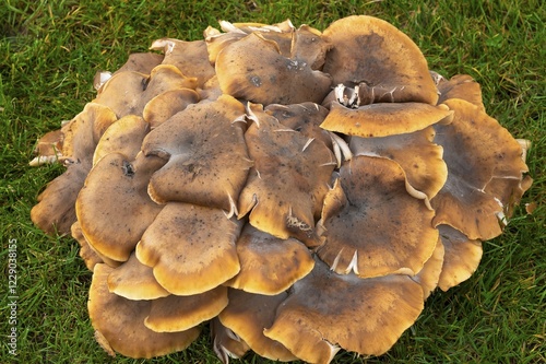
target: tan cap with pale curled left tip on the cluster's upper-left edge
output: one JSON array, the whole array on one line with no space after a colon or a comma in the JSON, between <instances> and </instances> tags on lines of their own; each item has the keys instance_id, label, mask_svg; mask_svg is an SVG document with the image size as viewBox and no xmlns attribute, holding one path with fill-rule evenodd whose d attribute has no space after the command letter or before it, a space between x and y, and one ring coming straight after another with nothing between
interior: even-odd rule
<instances>
[{"instance_id":1,"label":"tan cap with pale curled left tip on the cluster's upper-left edge","mask_svg":"<svg viewBox=\"0 0 546 364\"><path fill-rule=\"evenodd\" d=\"M163 50L163 64L173 64L185 75L197 79L197 86L214 77L214 67L209 62L209 52L204 40L185 42L174 38L154 40L150 49Z\"/></svg>"}]
</instances>

